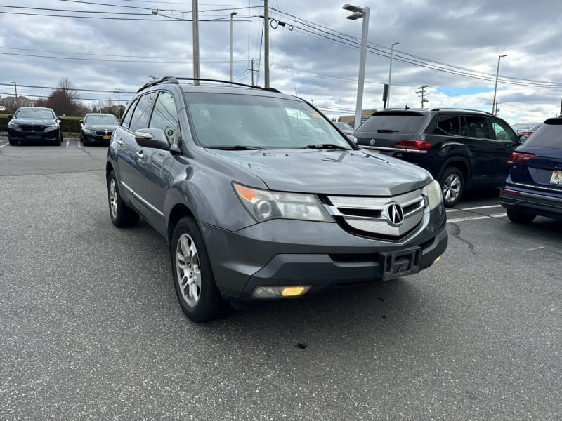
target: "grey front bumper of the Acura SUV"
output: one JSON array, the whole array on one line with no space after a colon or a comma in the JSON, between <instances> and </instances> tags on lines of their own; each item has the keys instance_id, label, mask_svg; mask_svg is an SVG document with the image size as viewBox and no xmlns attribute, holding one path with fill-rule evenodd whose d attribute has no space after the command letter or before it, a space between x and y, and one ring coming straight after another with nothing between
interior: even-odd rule
<instances>
[{"instance_id":1,"label":"grey front bumper of the Acura SUV","mask_svg":"<svg viewBox=\"0 0 562 421\"><path fill-rule=\"evenodd\" d=\"M398 253L415 256L416 273L431 266L447 248L444 212L437 226L425 226L402 243L380 241L345 232L329 222L271 220L228 232L202 225L211 266L226 298L254 300L257 286L310 285L306 294L320 293L348 284L388 277L385 258ZM398 274L396 276L402 276ZM395 277L396 277L395 276ZM260 299L263 300L263 299Z\"/></svg>"}]
</instances>

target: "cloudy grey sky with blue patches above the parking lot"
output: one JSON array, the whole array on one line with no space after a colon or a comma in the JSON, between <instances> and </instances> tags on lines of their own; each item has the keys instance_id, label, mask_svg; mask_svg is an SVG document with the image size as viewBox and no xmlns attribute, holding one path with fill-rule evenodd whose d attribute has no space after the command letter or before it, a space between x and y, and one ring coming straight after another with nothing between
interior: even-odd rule
<instances>
[{"instance_id":1,"label":"cloudy grey sky with blue patches above the parking lot","mask_svg":"<svg viewBox=\"0 0 562 421\"><path fill-rule=\"evenodd\" d=\"M362 19L346 1L269 0L270 86L299 95L327 116L353 114ZM509 123L561 111L562 1L377 0L369 7L363 109L464 107ZM263 0L202 0L200 77L263 86ZM61 77L81 100L122 104L144 83L193 76L192 4L181 0L4 0L0 6L0 95L42 98ZM252 68L254 69L252 71ZM423 88L422 88L423 87Z\"/></svg>"}]
</instances>

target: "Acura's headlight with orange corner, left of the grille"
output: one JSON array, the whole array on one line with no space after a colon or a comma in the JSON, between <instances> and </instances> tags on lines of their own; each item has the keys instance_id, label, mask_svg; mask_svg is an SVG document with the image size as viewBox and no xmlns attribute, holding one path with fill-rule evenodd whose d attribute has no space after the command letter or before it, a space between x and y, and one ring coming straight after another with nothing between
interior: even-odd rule
<instances>
[{"instance_id":1,"label":"Acura's headlight with orange corner, left of the grille","mask_svg":"<svg viewBox=\"0 0 562 421\"><path fill-rule=\"evenodd\" d=\"M275 218L332 222L313 194L271 192L234 185L244 208L258 222Z\"/></svg>"}]
</instances>

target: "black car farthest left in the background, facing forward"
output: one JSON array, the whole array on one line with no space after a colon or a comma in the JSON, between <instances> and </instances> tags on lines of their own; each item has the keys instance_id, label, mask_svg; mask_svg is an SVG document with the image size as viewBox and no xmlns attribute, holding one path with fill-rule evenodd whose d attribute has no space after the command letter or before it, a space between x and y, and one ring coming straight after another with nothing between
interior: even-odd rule
<instances>
[{"instance_id":1,"label":"black car farthest left in the background, facing forward","mask_svg":"<svg viewBox=\"0 0 562 421\"><path fill-rule=\"evenodd\" d=\"M15 114L8 114L8 142L49 142L62 145L63 131L60 120L53 109L44 107L19 107Z\"/></svg>"}]
</instances>

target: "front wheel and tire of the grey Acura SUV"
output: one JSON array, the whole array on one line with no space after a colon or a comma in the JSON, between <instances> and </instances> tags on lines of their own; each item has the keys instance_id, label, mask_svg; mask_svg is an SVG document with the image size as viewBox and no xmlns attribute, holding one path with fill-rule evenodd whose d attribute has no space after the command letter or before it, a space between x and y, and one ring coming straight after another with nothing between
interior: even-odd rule
<instances>
[{"instance_id":1,"label":"front wheel and tire of the grey Acura SUV","mask_svg":"<svg viewBox=\"0 0 562 421\"><path fill-rule=\"evenodd\" d=\"M197 323L216 319L226 300L218 292L207 247L193 218L178 221L170 254L174 288L185 315Z\"/></svg>"}]
</instances>

